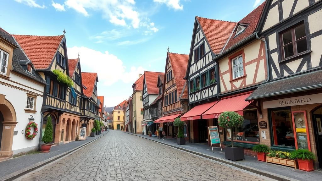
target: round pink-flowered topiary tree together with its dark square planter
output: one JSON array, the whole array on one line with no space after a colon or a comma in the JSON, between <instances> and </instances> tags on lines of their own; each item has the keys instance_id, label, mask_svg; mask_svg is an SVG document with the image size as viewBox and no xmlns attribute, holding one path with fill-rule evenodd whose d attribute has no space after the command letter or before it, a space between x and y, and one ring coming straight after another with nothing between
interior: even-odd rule
<instances>
[{"instance_id":1,"label":"round pink-flowered topiary tree together with its dark square planter","mask_svg":"<svg viewBox=\"0 0 322 181\"><path fill-rule=\"evenodd\" d=\"M230 128L233 132L235 127L241 127L244 118L235 111L225 111L219 115L218 125L223 128ZM234 147L234 138L232 136L232 145L225 146L225 157L228 160L245 160L244 148Z\"/></svg>"}]
</instances>

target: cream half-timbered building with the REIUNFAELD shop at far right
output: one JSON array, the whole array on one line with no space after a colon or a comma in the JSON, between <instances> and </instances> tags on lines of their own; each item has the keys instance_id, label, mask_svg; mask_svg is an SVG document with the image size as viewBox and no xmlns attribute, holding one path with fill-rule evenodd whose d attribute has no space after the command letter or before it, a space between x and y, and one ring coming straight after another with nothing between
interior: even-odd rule
<instances>
[{"instance_id":1,"label":"cream half-timbered building with the REIUNFAELD shop at far right","mask_svg":"<svg viewBox=\"0 0 322 181\"><path fill-rule=\"evenodd\" d=\"M262 108L260 142L309 149L315 169L322 167L321 21L322 1L266 1L258 34L267 41L269 81L246 99Z\"/></svg>"}]
</instances>

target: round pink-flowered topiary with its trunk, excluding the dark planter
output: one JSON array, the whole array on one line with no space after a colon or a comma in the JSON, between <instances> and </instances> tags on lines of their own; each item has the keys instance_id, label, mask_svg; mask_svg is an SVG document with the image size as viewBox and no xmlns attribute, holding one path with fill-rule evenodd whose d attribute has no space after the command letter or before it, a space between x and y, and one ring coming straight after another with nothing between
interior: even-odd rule
<instances>
[{"instance_id":1,"label":"round pink-flowered topiary with its trunk, excluding the dark planter","mask_svg":"<svg viewBox=\"0 0 322 181\"><path fill-rule=\"evenodd\" d=\"M235 127L242 127L244 117L235 111L225 111L219 115L218 125L223 128L230 128L232 132ZM232 136L232 147L234 147L234 137Z\"/></svg>"}]
</instances>

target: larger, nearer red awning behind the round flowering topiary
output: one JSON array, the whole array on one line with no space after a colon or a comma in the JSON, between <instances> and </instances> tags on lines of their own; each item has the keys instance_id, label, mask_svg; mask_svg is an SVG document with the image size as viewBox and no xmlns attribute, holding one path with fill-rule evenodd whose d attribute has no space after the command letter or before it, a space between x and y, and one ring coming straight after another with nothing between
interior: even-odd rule
<instances>
[{"instance_id":1,"label":"larger, nearer red awning behind the round flowering topiary","mask_svg":"<svg viewBox=\"0 0 322 181\"><path fill-rule=\"evenodd\" d=\"M238 114L243 115L243 109L251 103L251 101L249 102L245 100L249 95L251 95L251 93L236 97L223 98L202 114L202 119L218 118L218 116L224 111L235 111Z\"/></svg>"}]
</instances>

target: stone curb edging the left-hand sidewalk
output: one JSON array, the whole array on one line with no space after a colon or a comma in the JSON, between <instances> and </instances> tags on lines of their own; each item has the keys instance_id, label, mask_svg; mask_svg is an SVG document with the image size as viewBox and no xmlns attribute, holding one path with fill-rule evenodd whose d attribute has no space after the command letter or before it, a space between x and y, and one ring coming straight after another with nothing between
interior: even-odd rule
<instances>
[{"instance_id":1,"label":"stone curb edging the left-hand sidewalk","mask_svg":"<svg viewBox=\"0 0 322 181\"><path fill-rule=\"evenodd\" d=\"M100 136L99 138L105 136L106 134ZM72 152L75 152L76 150L78 150L78 149L80 149L80 148L82 148L82 147L84 147L84 146L86 146L86 145L98 140L99 138L93 139L93 140L91 140L91 141L89 141L87 143L84 143L84 144L82 144L82 145L80 145L80 146L78 146L78 147L76 147L76 148L74 148L74 149L72 149L70 151L66 151L66 152L64 152L62 154L59 154L57 156L48 158L48 159L46 159L44 161L41 161L41 162L36 163L36 164L33 164L33 165L31 165L31 166L29 166L27 168L18 170L16 172L12 173L12 174L7 175L7 176L0 177L0 181L12 181L12 180L14 180L16 178L19 178L20 176L26 175L29 172L32 172L32 171L34 171L34 170L36 170L36 169L38 169L40 167L43 167L43 166L45 166L45 165L47 165L47 164L49 164L49 163L51 163L51 162L53 162L53 161L55 161L55 160L57 160L59 158L65 157L65 156L69 155Z\"/></svg>"}]
</instances>

